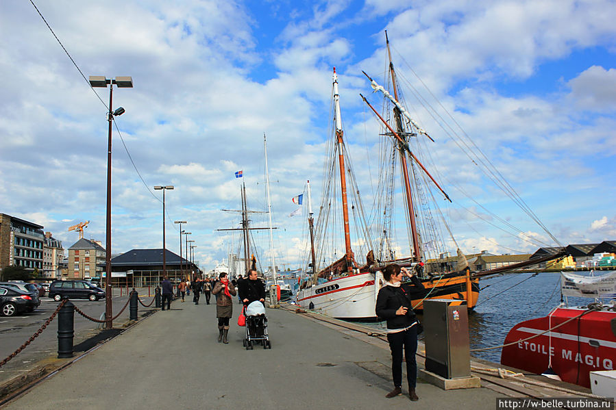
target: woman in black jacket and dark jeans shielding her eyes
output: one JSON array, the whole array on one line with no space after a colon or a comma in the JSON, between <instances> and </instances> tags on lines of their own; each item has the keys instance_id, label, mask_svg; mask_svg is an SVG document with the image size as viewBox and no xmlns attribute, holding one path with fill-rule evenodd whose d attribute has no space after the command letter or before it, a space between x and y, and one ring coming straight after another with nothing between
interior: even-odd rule
<instances>
[{"instance_id":1,"label":"woman in black jacket and dark jeans shielding her eyes","mask_svg":"<svg viewBox=\"0 0 616 410\"><path fill-rule=\"evenodd\" d=\"M411 283L402 285L402 277L406 275ZM391 264L384 268L385 284L376 299L376 315L387 321L387 341L391 350L391 371L393 373L394 389L385 397L391 398L402 393L402 348L406 357L406 378L408 380L408 396L417 401L415 393L417 384L417 328L419 322L412 311L408 287L417 286L423 289L423 284L415 274Z\"/></svg>"}]
</instances>

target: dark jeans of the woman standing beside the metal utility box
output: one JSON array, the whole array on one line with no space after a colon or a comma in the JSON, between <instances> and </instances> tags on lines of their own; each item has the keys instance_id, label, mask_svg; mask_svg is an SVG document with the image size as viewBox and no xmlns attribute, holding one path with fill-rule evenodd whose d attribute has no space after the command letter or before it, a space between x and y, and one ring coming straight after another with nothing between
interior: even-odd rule
<instances>
[{"instance_id":1,"label":"dark jeans of the woman standing beside the metal utility box","mask_svg":"<svg viewBox=\"0 0 616 410\"><path fill-rule=\"evenodd\" d=\"M402 348L404 347L404 357L406 358L406 379L408 388L415 389L417 384L417 324L411 326L406 331L388 333L387 341L391 349L391 372L393 373L393 384L402 387Z\"/></svg>"}]
</instances>

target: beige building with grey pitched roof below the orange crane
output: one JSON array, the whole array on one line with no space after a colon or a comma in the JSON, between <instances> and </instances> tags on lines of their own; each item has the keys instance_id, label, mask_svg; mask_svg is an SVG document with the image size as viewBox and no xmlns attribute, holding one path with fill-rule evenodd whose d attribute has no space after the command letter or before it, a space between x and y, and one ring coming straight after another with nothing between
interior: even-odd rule
<instances>
[{"instance_id":1,"label":"beige building with grey pitched roof below the orange crane","mask_svg":"<svg viewBox=\"0 0 616 410\"><path fill-rule=\"evenodd\" d=\"M100 242L82 238L69 248L69 263L62 279L100 279L105 266L105 249Z\"/></svg>"}]
</instances>

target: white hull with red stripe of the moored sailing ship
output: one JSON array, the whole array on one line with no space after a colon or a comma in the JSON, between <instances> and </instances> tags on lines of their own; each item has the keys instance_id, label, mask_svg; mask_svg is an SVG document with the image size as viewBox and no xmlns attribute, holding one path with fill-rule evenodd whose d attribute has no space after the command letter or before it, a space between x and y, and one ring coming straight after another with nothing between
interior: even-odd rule
<instances>
[{"instance_id":1,"label":"white hull with red stripe of the moored sailing ship","mask_svg":"<svg viewBox=\"0 0 616 410\"><path fill-rule=\"evenodd\" d=\"M382 274L377 275L377 283L382 283ZM369 272L334 279L299 290L297 303L309 309L312 302L315 311L332 318L373 320L377 317L375 305L380 289L374 283L375 274Z\"/></svg>"}]
</instances>

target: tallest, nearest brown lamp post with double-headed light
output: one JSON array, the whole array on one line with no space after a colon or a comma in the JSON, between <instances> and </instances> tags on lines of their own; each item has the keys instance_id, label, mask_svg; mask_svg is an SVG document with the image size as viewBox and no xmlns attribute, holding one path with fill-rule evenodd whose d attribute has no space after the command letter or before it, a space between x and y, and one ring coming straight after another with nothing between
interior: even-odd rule
<instances>
[{"instance_id":1,"label":"tallest, nearest brown lamp post with double-headed light","mask_svg":"<svg viewBox=\"0 0 616 410\"><path fill-rule=\"evenodd\" d=\"M125 110L123 107L118 107L115 111L112 110L113 103L113 85L118 88L132 88L132 77L115 77L108 79L104 75L90 75L90 86L107 88L109 84L109 112L107 120L109 123L109 136L107 147L107 235L105 249L105 265L106 265L106 284L105 284L105 320L106 328L112 329L113 322L113 304L111 299L111 123L114 116L121 116Z\"/></svg>"}]
</instances>

